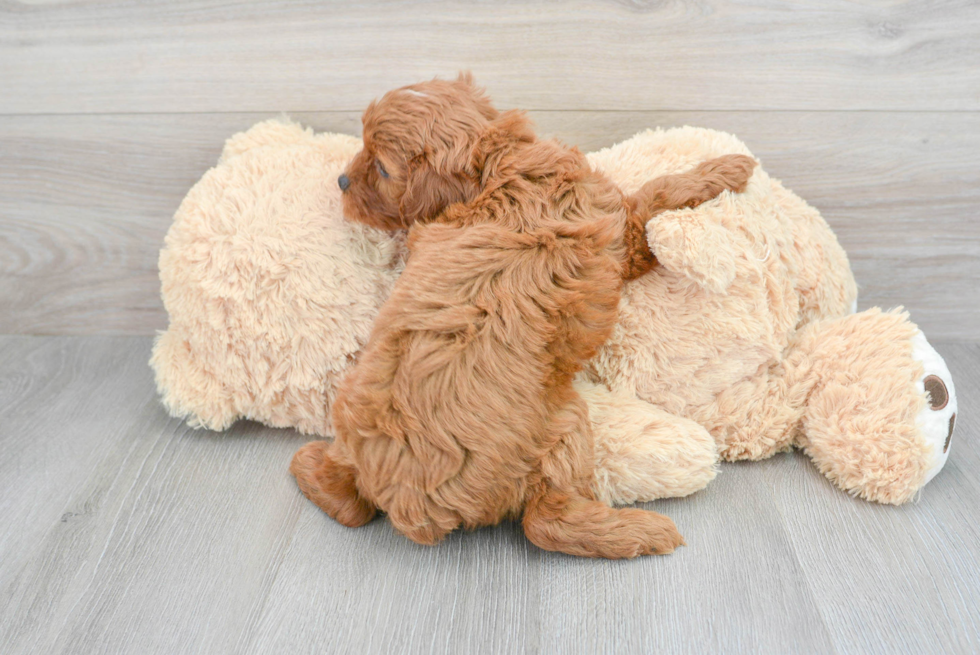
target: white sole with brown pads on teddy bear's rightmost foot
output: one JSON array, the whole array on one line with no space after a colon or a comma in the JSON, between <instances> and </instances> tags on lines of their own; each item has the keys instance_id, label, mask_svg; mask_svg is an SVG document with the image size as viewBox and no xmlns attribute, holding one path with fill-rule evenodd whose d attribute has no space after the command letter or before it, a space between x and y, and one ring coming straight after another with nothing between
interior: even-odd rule
<instances>
[{"instance_id":1,"label":"white sole with brown pads on teddy bear's rightmost foot","mask_svg":"<svg viewBox=\"0 0 980 655\"><path fill-rule=\"evenodd\" d=\"M949 457L956 426L956 387L946 362L921 331L912 337L912 357L922 364L924 372L915 384L926 400L915 422L933 449L933 464L923 482L926 484L942 470Z\"/></svg>"}]
</instances>

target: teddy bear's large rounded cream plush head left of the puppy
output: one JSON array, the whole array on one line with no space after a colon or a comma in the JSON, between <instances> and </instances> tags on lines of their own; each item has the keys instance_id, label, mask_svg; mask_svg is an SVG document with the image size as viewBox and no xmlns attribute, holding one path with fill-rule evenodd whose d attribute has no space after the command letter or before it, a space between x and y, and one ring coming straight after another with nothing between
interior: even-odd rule
<instances>
[{"instance_id":1,"label":"teddy bear's large rounded cream plush head left of the puppy","mask_svg":"<svg viewBox=\"0 0 980 655\"><path fill-rule=\"evenodd\" d=\"M404 265L403 235L343 219L337 177L360 145L266 121L229 139L181 203L151 360L173 414L330 433L336 386Z\"/></svg>"}]
</instances>

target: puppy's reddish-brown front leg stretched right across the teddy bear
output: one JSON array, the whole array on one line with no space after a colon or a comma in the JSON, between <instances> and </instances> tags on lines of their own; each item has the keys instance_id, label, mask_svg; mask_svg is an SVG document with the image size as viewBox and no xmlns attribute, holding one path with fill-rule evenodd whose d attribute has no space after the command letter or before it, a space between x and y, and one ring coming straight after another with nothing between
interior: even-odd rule
<instances>
[{"instance_id":1,"label":"puppy's reddish-brown front leg stretched right across the teddy bear","mask_svg":"<svg viewBox=\"0 0 980 655\"><path fill-rule=\"evenodd\" d=\"M646 225L665 211L697 207L723 191L741 192L748 184L756 161L745 155L724 155L702 162L693 170L663 175L644 184L626 199L628 249L623 279L634 280L652 269L657 258L650 250Z\"/></svg>"}]
</instances>

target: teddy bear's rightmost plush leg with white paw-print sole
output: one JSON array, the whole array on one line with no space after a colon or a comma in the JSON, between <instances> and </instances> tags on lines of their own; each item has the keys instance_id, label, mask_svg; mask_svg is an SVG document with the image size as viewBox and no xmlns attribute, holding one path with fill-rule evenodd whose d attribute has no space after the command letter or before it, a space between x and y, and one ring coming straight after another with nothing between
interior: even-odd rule
<instances>
[{"instance_id":1,"label":"teddy bear's rightmost plush leg with white paw-print sole","mask_svg":"<svg viewBox=\"0 0 980 655\"><path fill-rule=\"evenodd\" d=\"M816 324L800 343L812 382L797 445L841 489L901 504L949 454L956 391L949 369L899 312Z\"/></svg>"}]
</instances>

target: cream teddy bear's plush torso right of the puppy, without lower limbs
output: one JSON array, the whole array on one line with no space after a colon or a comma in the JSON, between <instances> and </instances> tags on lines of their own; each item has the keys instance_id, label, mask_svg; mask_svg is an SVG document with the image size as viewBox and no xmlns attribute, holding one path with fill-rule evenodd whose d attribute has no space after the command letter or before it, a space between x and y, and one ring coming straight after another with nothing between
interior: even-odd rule
<instances>
[{"instance_id":1,"label":"cream teddy bear's plush torso right of the puppy, without lower limbs","mask_svg":"<svg viewBox=\"0 0 980 655\"><path fill-rule=\"evenodd\" d=\"M641 159L660 174L711 152L748 152L719 132L665 136L637 135L593 162L628 193L639 180L623 161ZM628 156L617 152L625 148ZM731 458L763 454L784 435L769 435L781 430L759 416L769 394L758 387L799 328L852 311L847 256L820 215L762 170L741 194L654 218L648 234L660 268L627 285L595 377L708 427ZM739 439L746 429L755 436Z\"/></svg>"}]
</instances>

